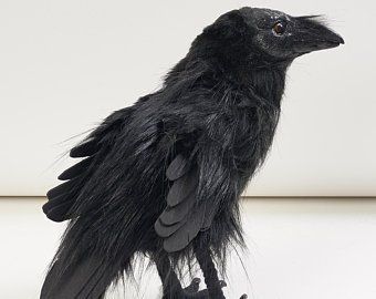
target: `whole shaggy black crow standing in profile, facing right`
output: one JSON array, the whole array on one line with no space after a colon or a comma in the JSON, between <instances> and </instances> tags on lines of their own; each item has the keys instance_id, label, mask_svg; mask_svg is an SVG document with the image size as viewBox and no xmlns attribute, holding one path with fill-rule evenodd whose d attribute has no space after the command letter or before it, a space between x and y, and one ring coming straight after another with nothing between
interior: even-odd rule
<instances>
[{"instance_id":1,"label":"whole shaggy black crow standing in profile, facing right","mask_svg":"<svg viewBox=\"0 0 376 299\"><path fill-rule=\"evenodd\" d=\"M137 252L156 265L163 298L224 298L213 261L224 267L229 247L244 245L239 197L272 143L286 70L341 43L315 17L269 9L233 10L207 27L159 91L70 152L83 159L43 206L70 224L41 298L103 298ZM194 260L207 290L178 280Z\"/></svg>"}]
</instances>

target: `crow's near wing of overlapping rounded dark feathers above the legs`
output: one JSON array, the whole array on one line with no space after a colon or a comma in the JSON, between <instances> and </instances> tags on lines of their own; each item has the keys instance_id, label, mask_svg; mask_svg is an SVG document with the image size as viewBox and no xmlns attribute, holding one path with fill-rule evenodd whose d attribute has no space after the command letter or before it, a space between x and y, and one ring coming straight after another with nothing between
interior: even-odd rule
<instances>
[{"instance_id":1,"label":"crow's near wing of overlapping rounded dark feathers above the legs","mask_svg":"<svg viewBox=\"0 0 376 299\"><path fill-rule=\"evenodd\" d=\"M155 231L163 238L167 252L185 249L200 231L212 226L221 208L239 196L231 151L224 152L220 144L202 141L190 151L187 156L178 154L166 169L166 177L173 184ZM182 148L182 152L189 151Z\"/></svg>"}]
</instances>

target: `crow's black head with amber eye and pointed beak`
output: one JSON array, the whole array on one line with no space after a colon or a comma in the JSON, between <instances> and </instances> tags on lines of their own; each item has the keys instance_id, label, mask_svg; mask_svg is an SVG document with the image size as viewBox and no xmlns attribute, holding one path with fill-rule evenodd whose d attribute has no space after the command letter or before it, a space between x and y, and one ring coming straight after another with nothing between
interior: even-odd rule
<instances>
[{"instance_id":1,"label":"crow's black head with amber eye and pointed beak","mask_svg":"<svg viewBox=\"0 0 376 299\"><path fill-rule=\"evenodd\" d=\"M291 17L246 7L222 14L195 43L206 55L261 68L288 65L302 54L335 48L344 40L315 16Z\"/></svg>"}]
</instances>

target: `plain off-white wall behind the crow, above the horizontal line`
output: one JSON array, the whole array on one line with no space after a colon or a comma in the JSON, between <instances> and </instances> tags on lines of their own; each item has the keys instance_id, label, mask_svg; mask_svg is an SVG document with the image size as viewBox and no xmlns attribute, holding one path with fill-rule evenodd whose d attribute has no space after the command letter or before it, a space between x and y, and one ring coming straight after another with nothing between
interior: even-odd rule
<instances>
[{"instance_id":1,"label":"plain off-white wall behind the crow, above the horizontal line","mask_svg":"<svg viewBox=\"0 0 376 299\"><path fill-rule=\"evenodd\" d=\"M0 195L43 195L62 143L155 91L191 40L241 6L324 13L346 44L296 61L248 195L376 195L373 1L0 2Z\"/></svg>"}]
</instances>

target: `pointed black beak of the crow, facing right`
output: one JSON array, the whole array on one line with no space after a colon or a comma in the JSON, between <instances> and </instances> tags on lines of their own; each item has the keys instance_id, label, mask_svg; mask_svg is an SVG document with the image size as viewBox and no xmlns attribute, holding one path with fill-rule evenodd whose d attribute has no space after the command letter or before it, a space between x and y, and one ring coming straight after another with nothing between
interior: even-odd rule
<instances>
[{"instance_id":1,"label":"pointed black beak of the crow, facing right","mask_svg":"<svg viewBox=\"0 0 376 299\"><path fill-rule=\"evenodd\" d=\"M331 49L345 43L343 38L322 24L317 17L295 18L293 50L296 54Z\"/></svg>"}]
</instances>

